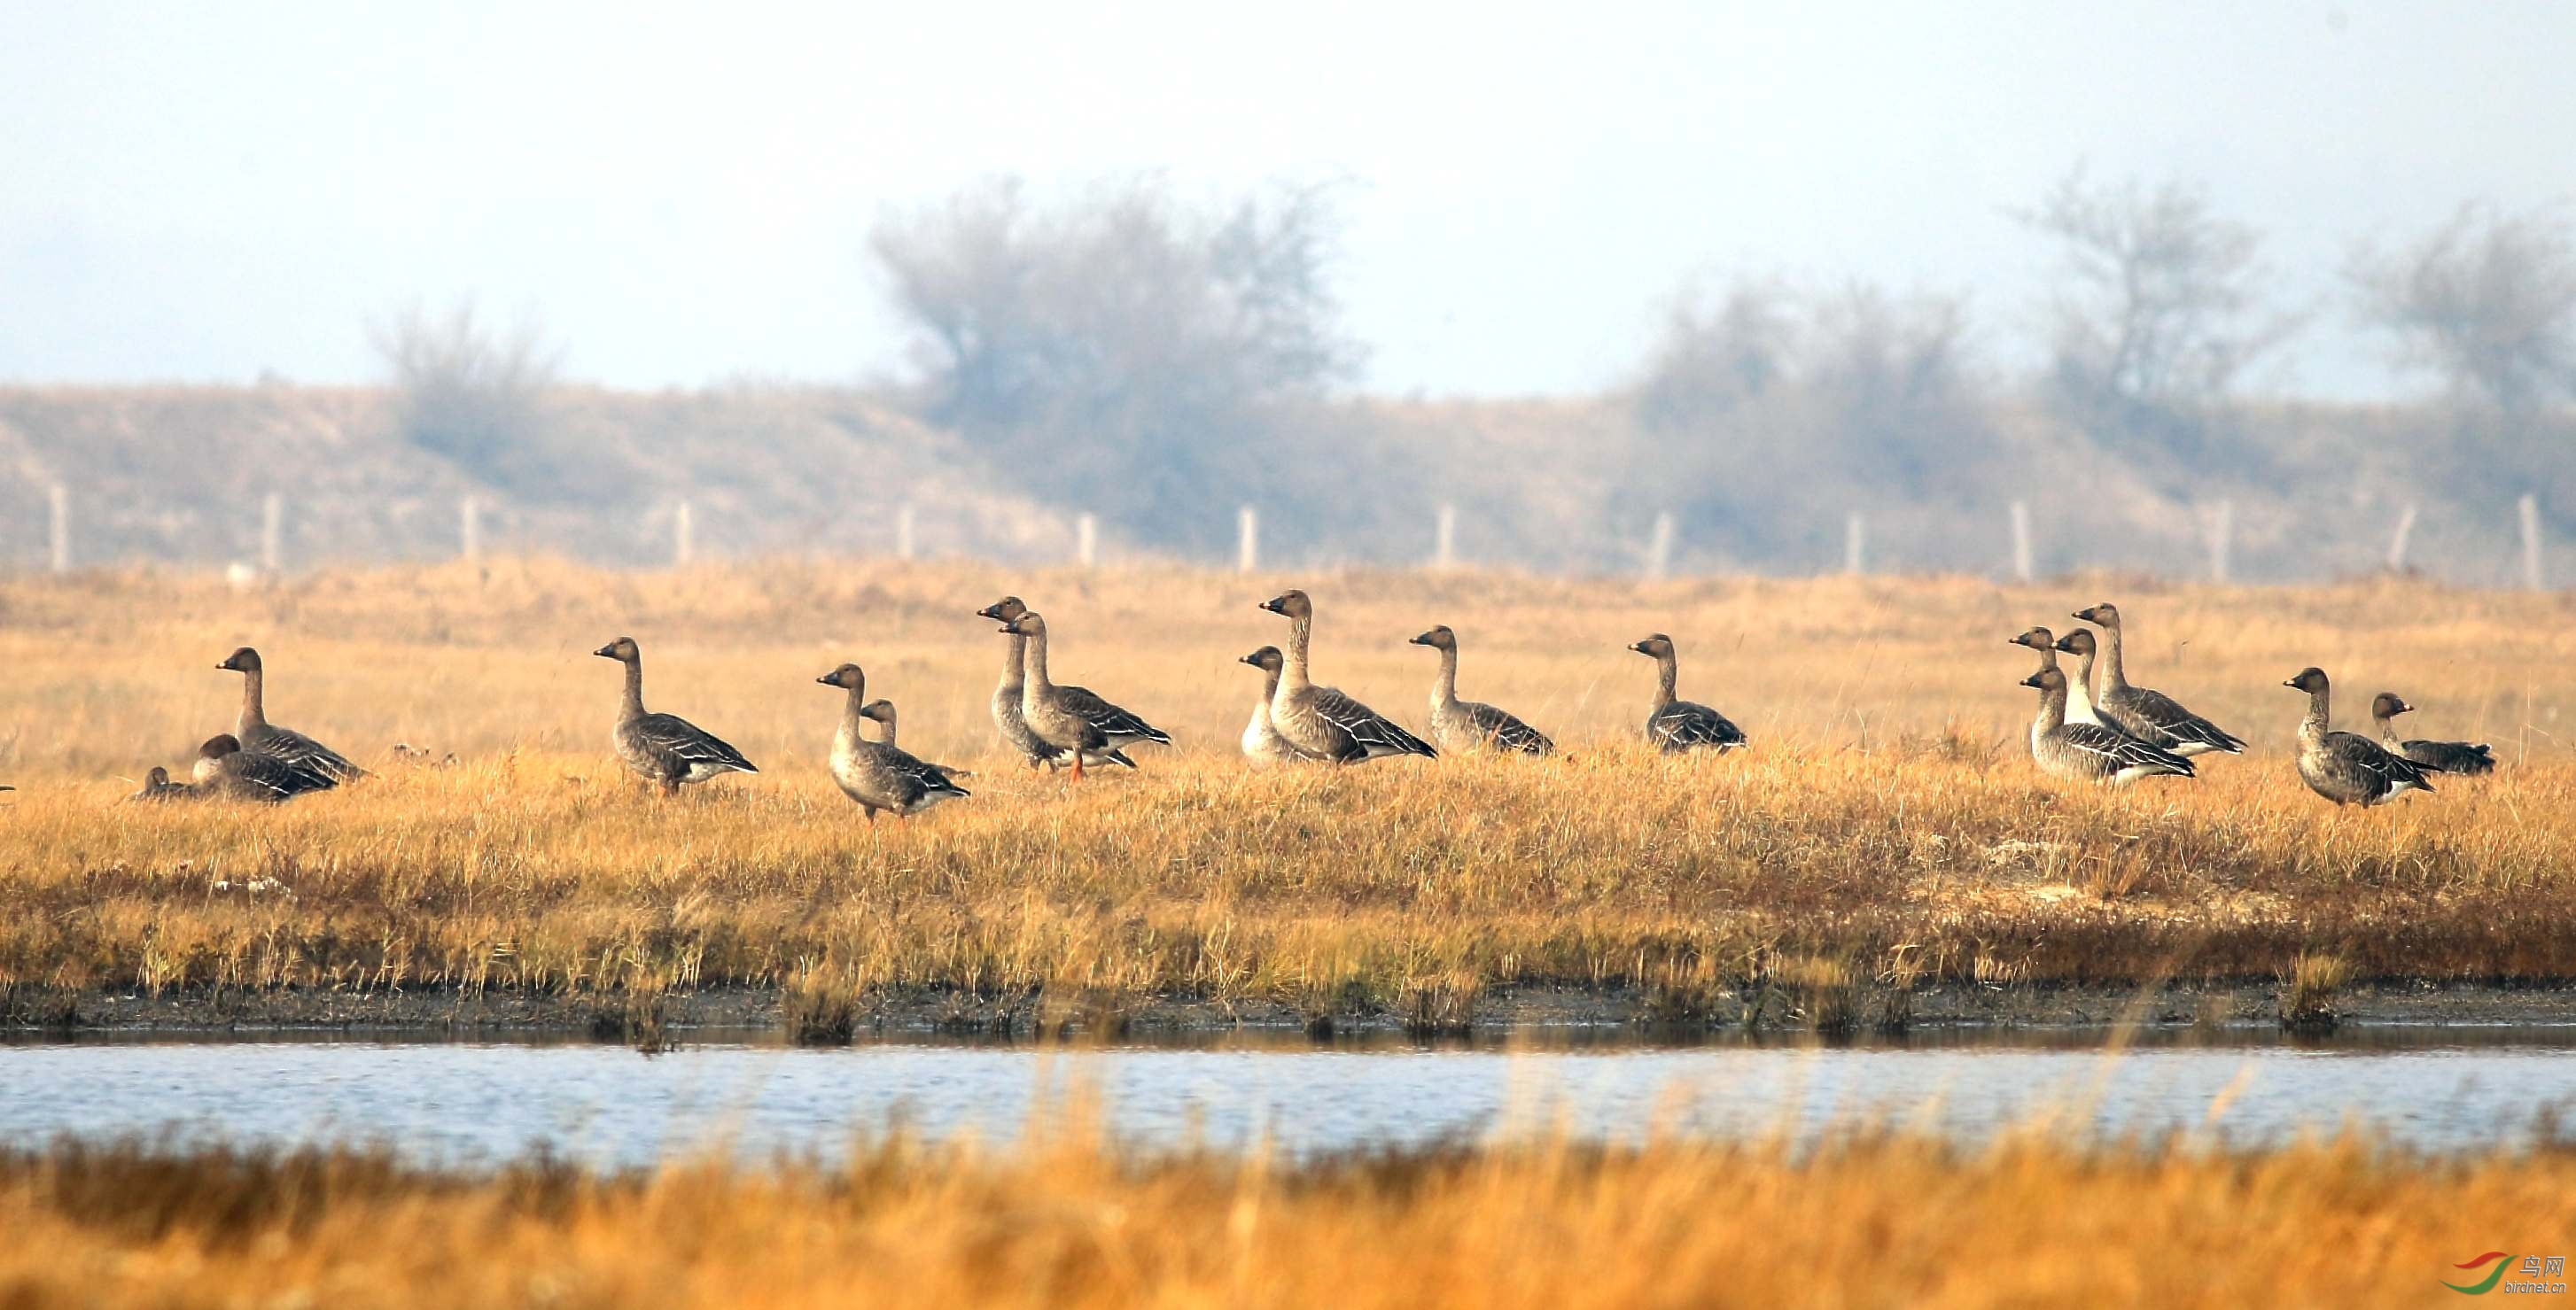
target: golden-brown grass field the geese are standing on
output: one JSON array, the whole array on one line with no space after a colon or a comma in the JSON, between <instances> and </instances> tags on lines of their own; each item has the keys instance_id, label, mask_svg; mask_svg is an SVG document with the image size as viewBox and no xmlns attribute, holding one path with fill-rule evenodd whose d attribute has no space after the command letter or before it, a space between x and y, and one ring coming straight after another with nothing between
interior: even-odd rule
<instances>
[{"instance_id":1,"label":"golden-brown grass field the geese are standing on","mask_svg":"<svg viewBox=\"0 0 2576 1310\"><path fill-rule=\"evenodd\" d=\"M1419 723L1432 654L1569 746L1551 762L1249 772L1234 736L1280 641L1255 602L1316 595L1316 677ZM1010 770L971 610L1018 592L1056 677L1177 752L1082 788ZM2246 736L2200 780L2097 793L2022 757L2030 654L2004 638L2117 600L2130 672ZM0 986L526 988L649 1004L778 986L832 1029L891 988L1267 999L1466 1022L1502 986L1633 988L1649 1017L1734 1019L1752 983L1806 1014L1909 983L2576 978L2576 600L2409 582L2197 589L2138 579L1561 582L1517 574L1239 579L974 564L554 561L0 582ZM1633 744L1669 631L1682 695L1749 754ZM657 800L605 752L631 633L647 703L762 772ZM263 649L270 718L381 777L283 808L116 806L232 723ZM860 824L822 757L842 659L904 744L976 770L971 800ZM2303 664L2349 726L2496 744L2488 780L2383 811L2308 795L2285 757ZM456 767L407 767L394 741ZM1754 988L1759 991L1759 988ZM1862 1014L1865 1019L1868 1014Z\"/></svg>"}]
</instances>

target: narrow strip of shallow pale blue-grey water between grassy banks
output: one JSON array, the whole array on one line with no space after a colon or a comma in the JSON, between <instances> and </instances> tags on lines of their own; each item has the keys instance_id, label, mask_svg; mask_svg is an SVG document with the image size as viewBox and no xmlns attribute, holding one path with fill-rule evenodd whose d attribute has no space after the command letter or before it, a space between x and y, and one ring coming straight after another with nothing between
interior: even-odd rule
<instances>
[{"instance_id":1,"label":"narrow strip of shallow pale blue-grey water between grassy banks","mask_svg":"<svg viewBox=\"0 0 2576 1310\"><path fill-rule=\"evenodd\" d=\"M1069 1114L1077 1089L1097 1091L1110 1132L1128 1143L1267 1138L1298 1156L1551 1125L1615 1140L1654 1130L1811 1140L1888 1122L1976 1140L2050 1109L2112 1135L2208 1130L2259 1145L2349 1120L2411 1148L2470 1150L2524 1143L2576 1109L2576 1029L2143 1035L2117 1055L2102 1042L2099 1029L2040 1029L1649 1047L1556 1032L1512 1045L1218 1035L1087 1050L922 1037L793 1050L696 1035L683 1050L639 1055L363 1035L88 1037L0 1045L0 1143L389 1143L440 1163L538 1145L592 1163L703 1148L832 1156L894 1122L933 1138L1018 1138L1033 1114Z\"/></svg>"}]
</instances>

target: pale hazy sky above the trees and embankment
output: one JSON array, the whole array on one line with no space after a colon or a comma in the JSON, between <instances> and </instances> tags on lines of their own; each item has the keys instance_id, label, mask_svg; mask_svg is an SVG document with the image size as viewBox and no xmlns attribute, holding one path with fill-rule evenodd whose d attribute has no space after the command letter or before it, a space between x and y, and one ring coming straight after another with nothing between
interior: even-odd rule
<instances>
[{"instance_id":1,"label":"pale hazy sky above the trees and embankment","mask_svg":"<svg viewBox=\"0 0 2576 1310\"><path fill-rule=\"evenodd\" d=\"M2184 178L2401 383L2357 237L2576 193L2576 5L64 5L0 0L0 378L366 381L533 311L618 386L899 363L886 206L997 172L1347 178L1370 389L1618 381L1685 275L1965 288L2009 355L2074 162Z\"/></svg>"}]
</instances>

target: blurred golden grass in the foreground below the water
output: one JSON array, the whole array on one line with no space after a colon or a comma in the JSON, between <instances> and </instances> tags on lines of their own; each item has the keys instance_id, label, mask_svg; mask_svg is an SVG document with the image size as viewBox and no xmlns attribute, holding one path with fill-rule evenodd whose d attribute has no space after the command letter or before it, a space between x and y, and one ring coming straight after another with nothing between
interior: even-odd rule
<instances>
[{"instance_id":1,"label":"blurred golden grass in the foreground below the water","mask_svg":"<svg viewBox=\"0 0 2576 1310\"><path fill-rule=\"evenodd\" d=\"M845 1166L0 1153L5 1305L2427 1305L2563 1253L2576 1156L1528 1140L1288 1166L1082 1132ZM2519 1279L2519 1274L2512 1274Z\"/></svg>"}]
</instances>

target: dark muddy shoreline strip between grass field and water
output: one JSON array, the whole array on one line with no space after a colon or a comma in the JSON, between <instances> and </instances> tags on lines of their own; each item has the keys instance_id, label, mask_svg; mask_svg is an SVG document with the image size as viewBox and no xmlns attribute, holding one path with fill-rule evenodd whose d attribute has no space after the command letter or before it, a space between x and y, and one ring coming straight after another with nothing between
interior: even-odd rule
<instances>
[{"instance_id":1,"label":"dark muddy shoreline strip between grass field and water","mask_svg":"<svg viewBox=\"0 0 2576 1310\"><path fill-rule=\"evenodd\" d=\"M1857 988L1844 999L1847 1027L1868 1029L1971 1029L1971 1027L2218 1027L2280 1019L2282 986L2164 983L2138 986L1917 986L1901 999L1888 988ZM15 1035L219 1035L368 1029L412 1037L562 1035L603 1040L677 1037L690 1029L788 1032L791 999L781 988L706 988L690 993L513 993L513 991L46 991L13 988L0 996L0 1032ZM1747 1022L1747 1009L1759 1017ZM2576 986L2494 986L2375 981L2354 983L2334 999L2342 1024L2576 1024ZM1115 999L1092 996L966 996L907 991L871 996L855 1014L855 1035L956 1032L992 1037L1151 1037L1216 1035L1234 1029L1311 1035L1512 1035L1543 1029L1638 1032L1801 1032L1816 1027L1814 999L1788 991L1728 993L1695 1011L1672 1014L1636 991L1492 988L1437 1014L1352 1009L1311 1014L1278 1001ZM1832 1027L1832 1022L1829 1022Z\"/></svg>"}]
</instances>

